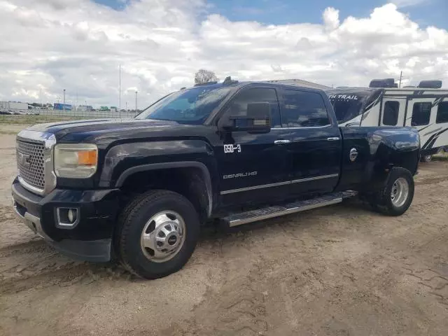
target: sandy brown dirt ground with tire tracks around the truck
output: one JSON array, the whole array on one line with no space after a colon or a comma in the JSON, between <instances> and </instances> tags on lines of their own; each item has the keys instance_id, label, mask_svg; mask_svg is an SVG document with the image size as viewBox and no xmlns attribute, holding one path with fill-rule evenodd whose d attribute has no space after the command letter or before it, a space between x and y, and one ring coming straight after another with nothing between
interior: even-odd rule
<instances>
[{"instance_id":1,"label":"sandy brown dirt ground with tire tracks around the truck","mask_svg":"<svg viewBox=\"0 0 448 336\"><path fill-rule=\"evenodd\" d=\"M447 335L448 161L422 164L398 218L356 201L204 230L165 279L74 262L10 207L0 135L0 335Z\"/></svg>"}]
</instances>

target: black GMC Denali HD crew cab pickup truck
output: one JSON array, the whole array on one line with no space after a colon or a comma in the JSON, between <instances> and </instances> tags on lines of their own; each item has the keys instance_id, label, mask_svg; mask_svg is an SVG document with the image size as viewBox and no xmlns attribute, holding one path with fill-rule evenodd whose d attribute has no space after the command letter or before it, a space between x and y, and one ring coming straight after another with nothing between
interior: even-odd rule
<instances>
[{"instance_id":1,"label":"black GMC Denali HD crew cab pickup truck","mask_svg":"<svg viewBox=\"0 0 448 336\"><path fill-rule=\"evenodd\" d=\"M15 212L59 251L158 278L201 225L235 226L355 194L390 216L414 196L419 134L338 127L321 90L196 85L131 120L41 124L17 137Z\"/></svg>"}]
</instances>

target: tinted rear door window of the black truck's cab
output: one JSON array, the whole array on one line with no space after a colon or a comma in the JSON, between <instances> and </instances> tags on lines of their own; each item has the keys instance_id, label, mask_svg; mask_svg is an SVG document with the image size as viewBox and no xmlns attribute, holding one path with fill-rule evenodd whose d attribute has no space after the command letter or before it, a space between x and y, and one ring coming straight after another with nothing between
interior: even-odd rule
<instances>
[{"instance_id":1,"label":"tinted rear door window of the black truck's cab","mask_svg":"<svg viewBox=\"0 0 448 336\"><path fill-rule=\"evenodd\" d=\"M330 125L321 94L299 90L283 90L283 124L288 127L321 127Z\"/></svg>"}]
</instances>

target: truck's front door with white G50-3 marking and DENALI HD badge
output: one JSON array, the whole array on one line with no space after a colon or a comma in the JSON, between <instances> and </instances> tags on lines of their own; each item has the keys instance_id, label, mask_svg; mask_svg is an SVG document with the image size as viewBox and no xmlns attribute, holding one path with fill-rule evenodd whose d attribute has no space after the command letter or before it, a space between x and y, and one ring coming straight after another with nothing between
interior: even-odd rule
<instances>
[{"instance_id":1,"label":"truck's front door with white G50-3 marking and DENALI HD badge","mask_svg":"<svg viewBox=\"0 0 448 336\"><path fill-rule=\"evenodd\" d=\"M269 132L226 131L230 117L246 116L248 104L269 103ZM281 128L279 102L273 87L243 87L225 106L218 120L221 143L215 148L220 174L221 202L232 204L271 202L288 195L289 132Z\"/></svg>"}]
</instances>

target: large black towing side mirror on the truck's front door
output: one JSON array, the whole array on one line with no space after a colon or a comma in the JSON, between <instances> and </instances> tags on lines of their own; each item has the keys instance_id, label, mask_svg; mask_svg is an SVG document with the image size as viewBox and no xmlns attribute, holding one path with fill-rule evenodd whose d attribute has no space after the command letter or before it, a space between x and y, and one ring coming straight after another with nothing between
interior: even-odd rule
<instances>
[{"instance_id":1,"label":"large black towing side mirror on the truck's front door","mask_svg":"<svg viewBox=\"0 0 448 336\"><path fill-rule=\"evenodd\" d=\"M271 130L271 108L269 103L247 104L246 116L230 116L226 128L235 131L269 132Z\"/></svg>"}]
</instances>

